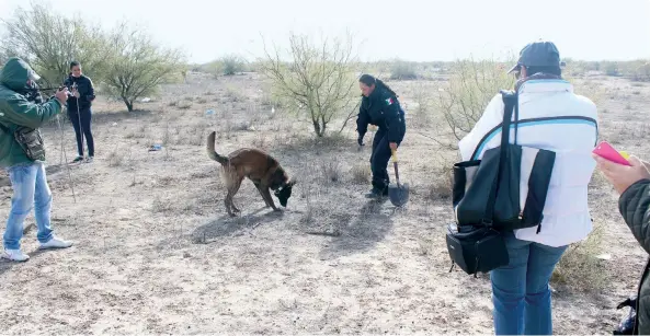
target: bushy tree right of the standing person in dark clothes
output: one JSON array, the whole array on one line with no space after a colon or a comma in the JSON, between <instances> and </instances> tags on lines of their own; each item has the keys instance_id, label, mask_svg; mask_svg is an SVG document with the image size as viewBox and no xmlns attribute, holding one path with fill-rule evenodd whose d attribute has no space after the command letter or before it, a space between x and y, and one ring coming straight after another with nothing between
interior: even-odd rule
<instances>
[{"instance_id":1,"label":"bushy tree right of the standing person in dark clothes","mask_svg":"<svg viewBox=\"0 0 650 336\"><path fill-rule=\"evenodd\" d=\"M103 83L128 112L134 111L137 99L156 93L160 84L176 80L185 69L181 50L161 48L151 36L125 24L110 34L109 43L111 57Z\"/></svg>"}]
</instances>

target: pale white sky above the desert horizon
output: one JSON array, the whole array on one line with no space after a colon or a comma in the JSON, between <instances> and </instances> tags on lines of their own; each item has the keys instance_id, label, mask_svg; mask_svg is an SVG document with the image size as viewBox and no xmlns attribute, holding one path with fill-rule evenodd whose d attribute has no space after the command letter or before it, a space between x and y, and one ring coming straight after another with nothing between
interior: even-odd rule
<instances>
[{"instance_id":1,"label":"pale white sky above the desert horizon","mask_svg":"<svg viewBox=\"0 0 650 336\"><path fill-rule=\"evenodd\" d=\"M562 58L650 58L650 0L46 1L105 27L137 23L191 62L252 59L263 55L262 37L286 47L290 32L315 40L350 32L363 60L504 57L539 38L556 43ZM0 19L28 3L0 0Z\"/></svg>"}]
</instances>

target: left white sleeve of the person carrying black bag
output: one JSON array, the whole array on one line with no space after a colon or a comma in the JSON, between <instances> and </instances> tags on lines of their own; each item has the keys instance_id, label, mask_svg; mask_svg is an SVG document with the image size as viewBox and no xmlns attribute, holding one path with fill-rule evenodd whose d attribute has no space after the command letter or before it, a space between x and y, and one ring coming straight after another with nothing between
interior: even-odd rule
<instances>
[{"instance_id":1,"label":"left white sleeve of the person carrying black bag","mask_svg":"<svg viewBox=\"0 0 650 336\"><path fill-rule=\"evenodd\" d=\"M476 123L471 131L458 142L458 150L460 151L463 161L471 160L471 155L479 146L483 146L483 148L478 153L477 159L482 158L486 150L495 147L493 143L498 143L497 146L499 146L501 141L488 141L488 139L483 138L503 121L504 107L503 97L501 93L498 93L492 97L488 106L486 106L483 115Z\"/></svg>"}]
</instances>

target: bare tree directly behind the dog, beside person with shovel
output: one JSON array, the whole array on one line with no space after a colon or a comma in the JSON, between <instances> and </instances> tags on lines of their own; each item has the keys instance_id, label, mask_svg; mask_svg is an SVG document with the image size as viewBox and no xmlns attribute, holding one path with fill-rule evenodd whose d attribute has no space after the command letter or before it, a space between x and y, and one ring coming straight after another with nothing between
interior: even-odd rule
<instances>
[{"instance_id":1,"label":"bare tree directly behind the dog, beside person with shovel","mask_svg":"<svg viewBox=\"0 0 650 336\"><path fill-rule=\"evenodd\" d=\"M347 37L345 43L324 38L313 44L307 36L292 34L290 62L282 60L277 48L271 54L264 44L265 59L260 61L262 72L272 80L278 97L286 100L295 112L308 114L318 137L323 137L330 121L343 111L350 111L352 102L358 99L354 94L356 62L351 36Z\"/></svg>"}]
</instances>

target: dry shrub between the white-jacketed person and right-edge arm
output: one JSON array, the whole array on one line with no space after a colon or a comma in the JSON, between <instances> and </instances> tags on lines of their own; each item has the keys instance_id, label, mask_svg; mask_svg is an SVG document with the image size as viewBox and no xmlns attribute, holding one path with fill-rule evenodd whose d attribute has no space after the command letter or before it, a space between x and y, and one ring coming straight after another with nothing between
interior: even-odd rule
<instances>
[{"instance_id":1,"label":"dry shrub between the white-jacketed person and right-edge arm","mask_svg":"<svg viewBox=\"0 0 650 336\"><path fill-rule=\"evenodd\" d=\"M597 257L603 252L604 228L601 222L594 223L586 240L567 248L552 273L551 282L579 291L598 290L607 283L604 260Z\"/></svg>"}]
</instances>

